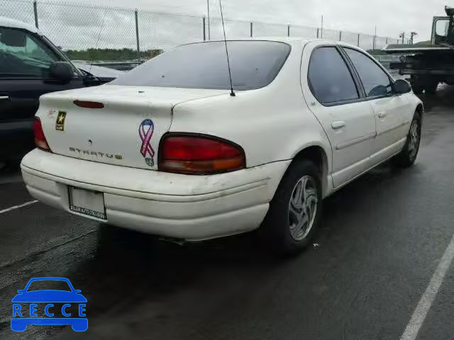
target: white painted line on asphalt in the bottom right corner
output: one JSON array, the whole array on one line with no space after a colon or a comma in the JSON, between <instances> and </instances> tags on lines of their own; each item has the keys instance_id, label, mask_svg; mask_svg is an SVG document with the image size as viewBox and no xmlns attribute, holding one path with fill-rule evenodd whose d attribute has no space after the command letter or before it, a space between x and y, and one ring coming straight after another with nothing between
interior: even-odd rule
<instances>
[{"instance_id":1,"label":"white painted line on asphalt in the bottom right corner","mask_svg":"<svg viewBox=\"0 0 454 340\"><path fill-rule=\"evenodd\" d=\"M404 334L402 334L400 338L401 340L416 340L419 329L421 329L424 319L426 319L427 313L431 309L433 300L435 300L438 290L441 287L441 283L443 283L443 278L453 262L453 259L454 237L451 239L448 248L446 248L440 263L438 263L438 267L436 268L435 273L433 273L431 282L428 284L421 300L419 300L419 304L416 306L416 310L414 310L410 322L407 324Z\"/></svg>"}]
</instances>

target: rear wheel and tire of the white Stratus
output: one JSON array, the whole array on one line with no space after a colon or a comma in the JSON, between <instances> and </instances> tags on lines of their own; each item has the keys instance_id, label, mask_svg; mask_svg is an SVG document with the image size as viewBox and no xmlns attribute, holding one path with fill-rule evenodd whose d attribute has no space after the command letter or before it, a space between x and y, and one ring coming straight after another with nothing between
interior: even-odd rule
<instances>
[{"instance_id":1,"label":"rear wheel and tire of the white Stratus","mask_svg":"<svg viewBox=\"0 0 454 340\"><path fill-rule=\"evenodd\" d=\"M262 242L277 254L298 254L314 237L321 210L319 169L309 160L294 161L279 183L260 227Z\"/></svg>"}]
</instances>

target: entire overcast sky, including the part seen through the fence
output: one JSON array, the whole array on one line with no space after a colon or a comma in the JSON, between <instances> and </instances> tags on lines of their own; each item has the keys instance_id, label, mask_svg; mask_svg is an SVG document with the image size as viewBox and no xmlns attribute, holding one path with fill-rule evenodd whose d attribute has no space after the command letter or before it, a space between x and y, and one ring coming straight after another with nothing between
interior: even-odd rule
<instances>
[{"instance_id":1,"label":"entire overcast sky, including the part seen through the fence","mask_svg":"<svg viewBox=\"0 0 454 340\"><path fill-rule=\"evenodd\" d=\"M168 50L203 40L201 17L207 14L207 1L211 9L211 40L218 40L222 38L218 0L38 0L38 22L40 30L63 50L92 47L135 50L134 8L138 8L140 50ZM409 38L409 33L416 31L416 42L429 40L433 16L445 16L444 6L454 6L454 0L221 1L224 16L233 20L226 21L228 39L249 37L250 21L254 22L255 37L287 35L285 24L289 24L290 35L316 38L323 15L323 38L339 40L338 30L342 30L342 41L358 45L358 34L348 32L363 33L359 46L365 50L373 48L375 27L379 37L375 41L377 49L396 43L402 32ZM0 0L0 16L34 24L33 2Z\"/></svg>"}]
</instances>

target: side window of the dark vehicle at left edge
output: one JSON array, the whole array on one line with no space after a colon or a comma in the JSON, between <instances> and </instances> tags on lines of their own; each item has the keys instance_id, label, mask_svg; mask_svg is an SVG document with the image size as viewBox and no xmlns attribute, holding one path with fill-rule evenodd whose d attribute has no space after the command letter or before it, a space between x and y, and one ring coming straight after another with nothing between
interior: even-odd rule
<instances>
[{"instance_id":1,"label":"side window of the dark vehicle at left edge","mask_svg":"<svg viewBox=\"0 0 454 340\"><path fill-rule=\"evenodd\" d=\"M0 77L45 77L58 57L31 33L0 28Z\"/></svg>"}]
</instances>

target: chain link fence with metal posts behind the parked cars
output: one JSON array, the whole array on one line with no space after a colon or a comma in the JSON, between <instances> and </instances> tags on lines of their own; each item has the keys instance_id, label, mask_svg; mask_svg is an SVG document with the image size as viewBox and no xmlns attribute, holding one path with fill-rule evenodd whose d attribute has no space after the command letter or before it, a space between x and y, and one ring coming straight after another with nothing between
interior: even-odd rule
<instances>
[{"instance_id":1,"label":"chain link fence with metal posts behind the parked cars","mask_svg":"<svg viewBox=\"0 0 454 340\"><path fill-rule=\"evenodd\" d=\"M0 0L0 16L40 28L73 60L147 60L177 45L223 38L221 18L69 2ZM341 40L378 50L399 39L278 23L226 20L228 39L290 36Z\"/></svg>"}]
</instances>

